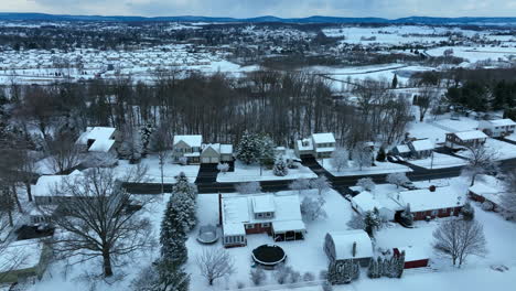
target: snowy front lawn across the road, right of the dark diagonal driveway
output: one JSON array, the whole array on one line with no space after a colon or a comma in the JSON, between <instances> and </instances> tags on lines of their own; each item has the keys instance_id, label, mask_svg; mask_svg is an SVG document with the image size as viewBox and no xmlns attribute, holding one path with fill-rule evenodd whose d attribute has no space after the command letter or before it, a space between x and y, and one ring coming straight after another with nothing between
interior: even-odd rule
<instances>
[{"instance_id":1,"label":"snowy front lawn across the road, right of the dark diagonal driveway","mask_svg":"<svg viewBox=\"0 0 516 291\"><path fill-rule=\"evenodd\" d=\"M405 173L412 172L412 170L406 165L389 163L389 162L377 162L375 161L374 166L364 166L362 170L358 166L353 164L353 161L350 161L348 168L343 168L341 171L337 171L332 165L332 159L321 159L318 160L318 163L330 172L334 176L351 176L351 175L373 175L373 174L387 174L387 173Z\"/></svg>"}]
</instances>

